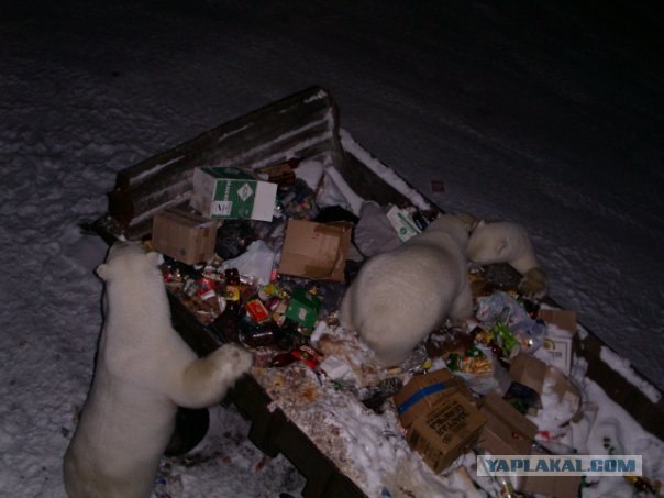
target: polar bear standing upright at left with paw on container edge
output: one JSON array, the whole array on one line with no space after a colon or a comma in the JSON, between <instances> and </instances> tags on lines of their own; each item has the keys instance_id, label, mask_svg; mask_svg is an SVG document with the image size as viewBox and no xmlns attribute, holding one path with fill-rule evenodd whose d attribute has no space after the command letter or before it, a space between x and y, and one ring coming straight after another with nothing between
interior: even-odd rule
<instances>
[{"instance_id":1,"label":"polar bear standing upright at left with paw on container edge","mask_svg":"<svg viewBox=\"0 0 664 498\"><path fill-rule=\"evenodd\" d=\"M97 268L104 324L80 421L65 454L70 497L150 497L177 407L219 402L252 366L224 345L198 358L170 324L157 253L115 243Z\"/></svg>"}]
</instances>

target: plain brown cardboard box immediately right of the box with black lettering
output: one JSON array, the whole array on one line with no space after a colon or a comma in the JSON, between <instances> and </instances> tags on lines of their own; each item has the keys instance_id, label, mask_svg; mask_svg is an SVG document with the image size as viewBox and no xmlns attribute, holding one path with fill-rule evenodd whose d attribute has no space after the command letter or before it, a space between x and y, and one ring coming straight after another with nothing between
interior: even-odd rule
<instances>
[{"instance_id":1,"label":"plain brown cardboard box immediately right of the box with black lettering","mask_svg":"<svg viewBox=\"0 0 664 498\"><path fill-rule=\"evenodd\" d=\"M538 427L500 396L490 392L479 410L487 424L479 445L493 455L529 455Z\"/></svg>"}]
</instances>

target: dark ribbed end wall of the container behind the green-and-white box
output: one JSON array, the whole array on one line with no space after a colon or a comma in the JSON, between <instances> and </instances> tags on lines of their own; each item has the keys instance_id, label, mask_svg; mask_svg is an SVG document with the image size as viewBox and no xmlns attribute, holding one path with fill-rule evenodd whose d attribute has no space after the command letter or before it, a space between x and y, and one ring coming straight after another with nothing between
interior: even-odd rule
<instances>
[{"instance_id":1,"label":"dark ribbed end wall of the container behind the green-and-white box","mask_svg":"<svg viewBox=\"0 0 664 498\"><path fill-rule=\"evenodd\" d=\"M125 228L141 224L189 198L197 166L265 165L286 153L339 151L337 143L334 101L324 89L311 87L123 169L109 192L109 213Z\"/></svg>"}]
</instances>

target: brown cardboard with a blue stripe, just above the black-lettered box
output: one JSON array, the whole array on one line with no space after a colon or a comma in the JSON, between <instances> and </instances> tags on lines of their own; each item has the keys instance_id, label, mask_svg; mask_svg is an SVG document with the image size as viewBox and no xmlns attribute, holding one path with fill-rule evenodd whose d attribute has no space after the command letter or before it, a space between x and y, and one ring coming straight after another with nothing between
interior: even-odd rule
<instances>
[{"instance_id":1,"label":"brown cardboard with a blue stripe, just above the black-lettered box","mask_svg":"<svg viewBox=\"0 0 664 498\"><path fill-rule=\"evenodd\" d=\"M416 375L397 392L392 400L401 425L408 428L414 420L427 414L439 401L463 388L463 380L446 369Z\"/></svg>"}]
</instances>

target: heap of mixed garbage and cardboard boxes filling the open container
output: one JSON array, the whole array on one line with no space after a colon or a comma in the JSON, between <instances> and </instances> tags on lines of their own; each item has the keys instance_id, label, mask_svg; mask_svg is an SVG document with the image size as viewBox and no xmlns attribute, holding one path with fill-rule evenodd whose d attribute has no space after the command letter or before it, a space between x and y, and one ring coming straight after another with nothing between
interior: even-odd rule
<instances>
[{"instance_id":1,"label":"heap of mixed garbage and cardboard boxes filling the open container","mask_svg":"<svg viewBox=\"0 0 664 498\"><path fill-rule=\"evenodd\" d=\"M468 452L573 453L567 427L591 409L569 377L575 313L472 268L472 320L441 323L401 365L372 365L370 351L339 325L346 286L363 261L424 230L436 212L373 201L353 212L323 169L298 159L258 177L197 168L197 209L158 213L146 241L164 255L168 290L220 341L255 353L256 376L273 379L270 395L292 396L305 374L266 372L303 367L320 386L398 417L402 438L436 474L458 468ZM556 477L480 485L502 496L517 486L576 496L580 484Z\"/></svg>"}]
</instances>

